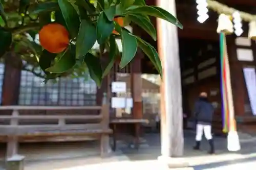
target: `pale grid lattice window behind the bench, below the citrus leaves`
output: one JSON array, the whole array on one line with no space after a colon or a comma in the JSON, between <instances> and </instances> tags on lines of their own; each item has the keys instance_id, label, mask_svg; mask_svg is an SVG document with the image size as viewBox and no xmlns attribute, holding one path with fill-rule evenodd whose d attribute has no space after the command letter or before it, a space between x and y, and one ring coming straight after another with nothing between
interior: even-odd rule
<instances>
[{"instance_id":1,"label":"pale grid lattice window behind the bench, below the citrus leaves","mask_svg":"<svg viewBox=\"0 0 256 170\"><path fill-rule=\"evenodd\" d=\"M96 105L97 86L92 79L61 78L44 83L44 79L22 71L19 105L87 106Z\"/></svg>"}]
</instances>

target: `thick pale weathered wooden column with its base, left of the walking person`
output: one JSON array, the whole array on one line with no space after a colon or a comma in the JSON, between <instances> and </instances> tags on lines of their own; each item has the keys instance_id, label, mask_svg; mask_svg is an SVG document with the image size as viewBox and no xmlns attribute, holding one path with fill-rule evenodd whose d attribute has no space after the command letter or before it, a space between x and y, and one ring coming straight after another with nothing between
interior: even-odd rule
<instances>
[{"instance_id":1,"label":"thick pale weathered wooden column with its base, left of the walking person","mask_svg":"<svg viewBox=\"0 0 256 170\"><path fill-rule=\"evenodd\" d=\"M175 0L157 0L157 5L176 15ZM170 157L183 155L183 116L179 43L177 27L157 20L158 52L163 67L161 92L161 156L169 167L184 167L187 163Z\"/></svg>"}]
</instances>

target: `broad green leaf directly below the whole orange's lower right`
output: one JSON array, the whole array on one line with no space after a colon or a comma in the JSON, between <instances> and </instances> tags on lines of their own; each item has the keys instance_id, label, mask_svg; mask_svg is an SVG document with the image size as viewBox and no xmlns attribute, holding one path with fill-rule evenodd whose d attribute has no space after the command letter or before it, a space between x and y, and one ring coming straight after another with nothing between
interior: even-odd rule
<instances>
[{"instance_id":1,"label":"broad green leaf directly below the whole orange's lower right","mask_svg":"<svg viewBox=\"0 0 256 170\"><path fill-rule=\"evenodd\" d=\"M53 66L47 68L46 71L53 73L66 72L69 69L73 68L76 64L76 58L71 50L71 47L69 47L64 53L58 54L58 56L59 55L60 59Z\"/></svg>"}]
</instances>

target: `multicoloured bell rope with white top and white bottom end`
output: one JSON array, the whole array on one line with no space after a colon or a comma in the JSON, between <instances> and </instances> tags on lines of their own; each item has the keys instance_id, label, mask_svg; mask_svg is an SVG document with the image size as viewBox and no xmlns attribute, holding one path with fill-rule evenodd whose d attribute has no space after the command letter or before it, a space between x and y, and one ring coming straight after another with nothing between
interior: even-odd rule
<instances>
[{"instance_id":1,"label":"multicoloured bell rope with white top and white bottom end","mask_svg":"<svg viewBox=\"0 0 256 170\"><path fill-rule=\"evenodd\" d=\"M232 33L233 28L230 17L221 14L217 32L220 33L220 56L221 56L221 94L222 94L222 114L223 132L228 132L227 148L229 151L239 151L241 149L239 136L234 118L233 96L230 81L230 68L226 46L226 34ZM224 21L226 24L224 24Z\"/></svg>"}]
</instances>

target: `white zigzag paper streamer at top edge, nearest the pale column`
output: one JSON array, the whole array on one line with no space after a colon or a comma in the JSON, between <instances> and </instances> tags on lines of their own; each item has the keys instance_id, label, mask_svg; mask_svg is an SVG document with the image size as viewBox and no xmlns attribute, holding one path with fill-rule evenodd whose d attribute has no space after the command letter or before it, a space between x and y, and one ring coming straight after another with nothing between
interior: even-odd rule
<instances>
[{"instance_id":1,"label":"white zigzag paper streamer at top edge, nearest the pale column","mask_svg":"<svg viewBox=\"0 0 256 170\"><path fill-rule=\"evenodd\" d=\"M197 20L200 23L203 23L209 18L209 15L207 14L208 13L207 2L206 0L197 0L196 3L197 3L197 10L198 10Z\"/></svg>"}]
</instances>

